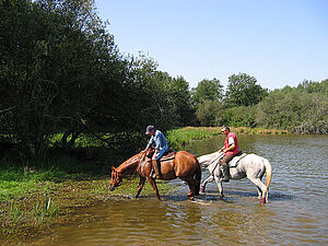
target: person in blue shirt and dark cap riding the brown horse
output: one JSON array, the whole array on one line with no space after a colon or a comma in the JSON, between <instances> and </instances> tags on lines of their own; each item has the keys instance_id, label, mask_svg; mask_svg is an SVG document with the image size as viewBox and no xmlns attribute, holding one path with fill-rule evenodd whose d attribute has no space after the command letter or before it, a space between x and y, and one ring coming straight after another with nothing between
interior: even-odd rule
<instances>
[{"instance_id":1,"label":"person in blue shirt and dark cap riding the brown horse","mask_svg":"<svg viewBox=\"0 0 328 246\"><path fill-rule=\"evenodd\" d=\"M156 130L154 126L148 126L145 130L145 134L150 134L151 139L149 140L147 148L144 151L147 151L151 145L155 145L155 153L152 157L152 166L155 171L155 174L152 175L152 178L160 178L160 168L159 168L159 162L162 155L165 151L167 151L167 140L165 136L162 133L162 131Z\"/></svg>"}]
</instances>

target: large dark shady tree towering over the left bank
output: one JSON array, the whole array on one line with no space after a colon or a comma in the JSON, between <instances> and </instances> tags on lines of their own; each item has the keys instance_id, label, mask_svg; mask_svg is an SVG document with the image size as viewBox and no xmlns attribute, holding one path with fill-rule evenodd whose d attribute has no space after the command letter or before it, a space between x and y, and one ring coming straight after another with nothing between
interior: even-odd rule
<instances>
[{"instance_id":1,"label":"large dark shady tree towering over the left bank","mask_svg":"<svg viewBox=\"0 0 328 246\"><path fill-rule=\"evenodd\" d=\"M117 99L121 61L93 1L0 4L0 106L15 107L1 118L7 126L2 132L43 157L49 136L65 132L65 140L68 133L77 137L95 126L95 116L103 115L97 101L102 89L110 92L107 101Z\"/></svg>"}]
</instances>

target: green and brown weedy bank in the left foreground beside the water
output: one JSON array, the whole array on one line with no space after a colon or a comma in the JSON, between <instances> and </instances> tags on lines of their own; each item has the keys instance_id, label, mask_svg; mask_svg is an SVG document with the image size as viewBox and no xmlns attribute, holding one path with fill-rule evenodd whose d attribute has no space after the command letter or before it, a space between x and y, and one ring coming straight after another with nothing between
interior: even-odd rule
<instances>
[{"instance_id":1,"label":"green and brown weedy bank in the left foreground beside the water","mask_svg":"<svg viewBox=\"0 0 328 246\"><path fill-rule=\"evenodd\" d=\"M78 209L105 201L114 196L133 197L137 176L124 179L120 187L108 190L110 174L69 174L54 168L12 166L0 167L0 245L24 242L25 238L47 231L52 224L79 219ZM173 187L159 181L162 195ZM145 184L141 196L155 195Z\"/></svg>"}]
</instances>

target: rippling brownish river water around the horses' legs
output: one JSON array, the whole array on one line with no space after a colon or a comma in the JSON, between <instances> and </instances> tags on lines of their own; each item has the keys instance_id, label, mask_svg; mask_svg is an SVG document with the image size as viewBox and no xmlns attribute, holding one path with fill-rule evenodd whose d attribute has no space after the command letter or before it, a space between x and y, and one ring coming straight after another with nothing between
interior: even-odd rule
<instances>
[{"instance_id":1,"label":"rippling brownish river water around the horses' legs","mask_svg":"<svg viewBox=\"0 0 328 246\"><path fill-rule=\"evenodd\" d=\"M328 136L239 136L246 153L272 165L269 203L248 180L214 183L189 201L176 179L174 194L109 198L81 210L87 220L55 227L31 245L328 245ZM196 154L221 148L223 137L195 141ZM208 176L203 171L202 180ZM137 191L137 187L136 187Z\"/></svg>"}]
</instances>

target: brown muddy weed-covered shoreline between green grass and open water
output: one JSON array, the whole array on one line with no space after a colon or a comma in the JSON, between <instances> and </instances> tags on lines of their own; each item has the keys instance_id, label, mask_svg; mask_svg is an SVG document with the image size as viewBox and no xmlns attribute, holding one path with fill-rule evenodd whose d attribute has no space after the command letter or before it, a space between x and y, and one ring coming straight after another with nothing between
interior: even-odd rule
<instances>
[{"instance_id":1,"label":"brown muddy weed-covered shoreline between green grass and open water","mask_svg":"<svg viewBox=\"0 0 328 246\"><path fill-rule=\"evenodd\" d=\"M51 227L74 223L81 219L87 220L87 214L81 214L83 208L113 198L134 198L139 183L137 176L125 179L115 191L108 190L109 180L109 176L102 176L84 180L65 180L50 185L39 184L39 190L26 194L20 199L1 202L0 245L25 245L31 238L49 233ZM174 190L174 187L165 181L157 181L157 186L160 194ZM44 189L44 187L47 188ZM145 195L156 199L149 184L144 186L141 194L141 196ZM39 218L35 214L35 207L47 199L55 204L57 212L56 214L48 212ZM20 220L11 214L13 213L12 203L20 208Z\"/></svg>"}]
</instances>

